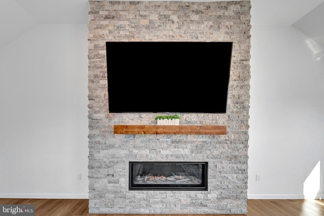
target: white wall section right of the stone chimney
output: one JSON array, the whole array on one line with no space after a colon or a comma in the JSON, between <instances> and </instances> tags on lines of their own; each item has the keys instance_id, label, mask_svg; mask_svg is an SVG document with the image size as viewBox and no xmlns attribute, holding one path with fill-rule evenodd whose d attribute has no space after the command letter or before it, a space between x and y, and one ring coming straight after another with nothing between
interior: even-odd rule
<instances>
[{"instance_id":1,"label":"white wall section right of the stone chimney","mask_svg":"<svg viewBox=\"0 0 324 216\"><path fill-rule=\"evenodd\" d=\"M294 27L252 26L248 198L324 197L324 49ZM261 181L256 181L256 174Z\"/></svg>"}]
</instances>

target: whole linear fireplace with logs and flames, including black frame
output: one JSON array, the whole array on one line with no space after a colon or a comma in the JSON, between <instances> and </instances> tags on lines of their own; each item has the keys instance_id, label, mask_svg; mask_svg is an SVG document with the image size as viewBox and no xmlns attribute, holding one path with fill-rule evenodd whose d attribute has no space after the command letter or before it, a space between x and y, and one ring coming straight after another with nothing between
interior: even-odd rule
<instances>
[{"instance_id":1,"label":"whole linear fireplace with logs and flames, including black frame","mask_svg":"<svg viewBox=\"0 0 324 216\"><path fill-rule=\"evenodd\" d=\"M208 162L129 162L129 190L207 190Z\"/></svg>"}]
</instances>

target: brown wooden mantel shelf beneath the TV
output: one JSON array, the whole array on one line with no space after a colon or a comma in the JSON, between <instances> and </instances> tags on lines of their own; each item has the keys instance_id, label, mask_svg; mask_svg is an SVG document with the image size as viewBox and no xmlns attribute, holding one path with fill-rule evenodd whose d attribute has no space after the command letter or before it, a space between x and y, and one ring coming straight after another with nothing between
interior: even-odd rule
<instances>
[{"instance_id":1,"label":"brown wooden mantel shelf beneath the TV","mask_svg":"<svg viewBox=\"0 0 324 216\"><path fill-rule=\"evenodd\" d=\"M113 125L114 134L226 135L219 125Z\"/></svg>"}]
</instances>

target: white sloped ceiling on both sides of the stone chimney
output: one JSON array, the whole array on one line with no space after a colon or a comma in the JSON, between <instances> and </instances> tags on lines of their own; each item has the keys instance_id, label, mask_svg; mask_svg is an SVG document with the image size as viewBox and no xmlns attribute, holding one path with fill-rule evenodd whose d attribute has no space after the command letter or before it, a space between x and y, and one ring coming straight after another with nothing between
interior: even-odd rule
<instances>
[{"instance_id":1,"label":"white sloped ceiling on both sides of the stone chimney","mask_svg":"<svg viewBox=\"0 0 324 216\"><path fill-rule=\"evenodd\" d=\"M213 2L221 1L227 0ZM88 0L2 0L1 5L0 49L38 24L88 24ZM251 5L252 27L294 26L324 46L324 0L251 0Z\"/></svg>"}]
</instances>

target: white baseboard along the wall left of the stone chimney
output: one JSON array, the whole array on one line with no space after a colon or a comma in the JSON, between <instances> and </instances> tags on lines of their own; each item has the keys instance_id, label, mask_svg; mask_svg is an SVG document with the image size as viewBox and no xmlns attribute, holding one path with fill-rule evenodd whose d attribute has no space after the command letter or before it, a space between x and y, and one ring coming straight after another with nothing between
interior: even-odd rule
<instances>
[{"instance_id":1,"label":"white baseboard along the wall left of the stone chimney","mask_svg":"<svg viewBox=\"0 0 324 216\"><path fill-rule=\"evenodd\" d=\"M3 194L0 198L19 199L89 199L89 194Z\"/></svg>"}]
</instances>

